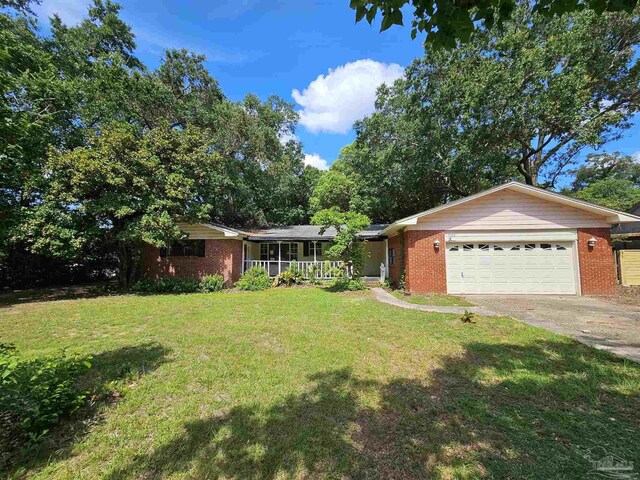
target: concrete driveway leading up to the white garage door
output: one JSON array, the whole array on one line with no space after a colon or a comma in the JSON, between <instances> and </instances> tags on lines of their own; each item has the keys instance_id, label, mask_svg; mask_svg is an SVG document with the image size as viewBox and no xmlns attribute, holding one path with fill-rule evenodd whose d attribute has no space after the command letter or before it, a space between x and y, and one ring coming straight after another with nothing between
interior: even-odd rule
<instances>
[{"instance_id":1,"label":"concrete driveway leading up to the white garage door","mask_svg":"<svg viewBox=\"0 0 640 480\"><path fill-rule=\"evenodd\" d=\"M640 307L564 295L465 295L496 313L640 363Z\"/></svg>"}]
</instances>

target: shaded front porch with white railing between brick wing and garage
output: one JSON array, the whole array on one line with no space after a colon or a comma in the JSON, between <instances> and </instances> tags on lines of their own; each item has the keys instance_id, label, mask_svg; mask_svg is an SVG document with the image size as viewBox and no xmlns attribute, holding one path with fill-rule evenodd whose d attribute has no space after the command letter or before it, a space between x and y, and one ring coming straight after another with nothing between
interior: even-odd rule
<instances>
[{"instance_id":1,"label":"shaded front porch with white railing between brick wing and garage","mask_svg":"<svg viewBox=\"0 0 640 480\"><path fill-rule=\"evenodd\" d=\"M331 280L344 271L343 262L325 255L327 241L245 241L243 246L243 272L251 267L264 268L270 277L295 266L305 279ZM364 265L364 278L384 281L387 278L386 240L366 242L369 253Z\"/></svg>"}]
</instances>

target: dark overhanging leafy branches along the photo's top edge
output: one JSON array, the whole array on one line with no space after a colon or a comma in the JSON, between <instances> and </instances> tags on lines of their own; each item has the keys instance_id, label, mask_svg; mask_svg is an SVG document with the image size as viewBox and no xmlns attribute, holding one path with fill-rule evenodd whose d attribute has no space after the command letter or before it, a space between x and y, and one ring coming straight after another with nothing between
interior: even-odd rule
<instances>
[{"instance_id":1,"label":"dark overhanging leafy branches along the photo's top edge","mask_svg":"<svg viewBox=\"0 0 640 480\"><path fill-rule=\"evenodd\" d=\"M356 11L356 22L366 19L369 24L378 12L382 15L380 31L384 32L393 25L404 24L402 9L406 5L413 7L411 38L418 32L426 33L425 44L453 48L456 41L467 42L478 28L501 26L511 19L516 0L475 0L459 2L455 0L350 0L350 6ZM631 12L636 6L634 0L620 2L583 2L580 0L538 0L531 5L535 12L546 17L563 13L572 13L591 9L597 14L607 12Z\"/></svg>"}]
</instances>

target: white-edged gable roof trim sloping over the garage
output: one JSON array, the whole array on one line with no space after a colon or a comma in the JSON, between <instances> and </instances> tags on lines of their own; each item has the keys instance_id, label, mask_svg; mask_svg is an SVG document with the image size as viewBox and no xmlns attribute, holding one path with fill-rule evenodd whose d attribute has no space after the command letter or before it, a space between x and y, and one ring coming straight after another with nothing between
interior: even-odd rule
<instances>
[{"instance_id":1,"label":"white-edged gable roof trim sloping over the garage","mask_svg":"<svg viewBox=\"0 0 640 480\"><path fill-rule=\"evenodd\" d=\"M455 200L453 202L445 203L443 205L432 208L430 210L425 210L424 212L416 213L415 215L411 215L409 217L396 220L394 223L392 223L387 228L385 228L381 232L381 234L382 235L393 234L394 232L396 232L402 227L415 225L418 222L418 219L420 218L433 215L434 213L441 212L448 208L462 205L464 203L484 197L485 195L490 195L492 193L499 192L501 190L513 190L520 193L524 193L526 195L531 195L531 196L542 198L551 202L560 203L569 207L577 208L579 210L585 210L587 212L604 217L604 220L611 224L640 221L640 217L636 215L632 215L630 213L620 212L618 210L602 207L594 203L585 202L584 200L578 200L576 198L567 197L565 195L561 195L556 192L551 192L543 188L533 187L531 185L526 185L524 183L513 181L513 182L505 183L503 185L499 185L497 187L490 188L480 193L476 193L475 195L470 195L468 197L461 198L460 200Z\"/></svg>"}]
</instances>

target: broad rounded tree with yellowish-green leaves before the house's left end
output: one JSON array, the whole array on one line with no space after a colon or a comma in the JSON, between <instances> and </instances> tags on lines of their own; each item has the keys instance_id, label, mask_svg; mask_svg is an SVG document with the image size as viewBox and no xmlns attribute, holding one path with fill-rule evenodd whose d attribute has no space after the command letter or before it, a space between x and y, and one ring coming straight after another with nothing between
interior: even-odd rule
<instances>
[{"instance_id":1,"label":"broad rounded tree with yellowish-green leaves before the house's left end","mask_svg":"<svg viewBox=\"0 0 640 480\"><path fill-rule=\"evenodd\" d=\"M130 285L143 243L168 246L181 237L177 221L209 218L224 166L203 139L191 126L165 125L143 136L121 126L92 135L86 146L52 152L49 187L22 227L34 251L73 257L101 239L115 247L120 284Z\"/></svg>"}]
</instances>

